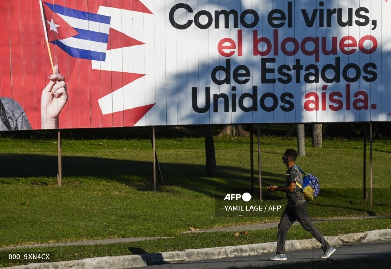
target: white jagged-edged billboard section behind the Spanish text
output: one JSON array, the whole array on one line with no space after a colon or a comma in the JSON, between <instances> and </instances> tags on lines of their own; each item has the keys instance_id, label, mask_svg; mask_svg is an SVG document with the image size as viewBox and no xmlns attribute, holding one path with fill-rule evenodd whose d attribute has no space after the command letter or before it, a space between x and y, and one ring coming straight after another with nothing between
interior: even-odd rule
<instances>
[{"instance_id":1,"label":"white jagged-edged billboard section behind the Spanish text","mask_svg":"<svg viewBox=\"0 0 391 269\"><path fill-rule=\"evenodd\" d=\"M390 2L382 0L143 0L142 2L153 14L108 7L99 9L99 14L111 16L112 28L142 41L144 45L110 50L107 52L105 62L92 62L93 68L146 74L101 98L99 105L103 114L156 103L136 126L391 120ZM292 3L292 9L289 3ZM174 20L177 24L184 25L194 20L196 14L199 14L199 22L206 25L208 23L206 11L208 11L213 16L212 25L207 29L200 29L192 22L186 29L175 28L169 18L170 11L172 12L176 4L181 5L181 8L174 13ZM188 7L191 7L193 12L186 10ZM276 11L276 9L281 11ZM352 25L339 26L338 15L333 14L330 20L332 25L327 27L327 13L334 9L337 9L336 13L341 10L342 23L351 21ZM352 10L352 17L348 16L349 9ZM239 20L239 26L236 28L234 17L230 16L229 27L225 28L224 16L221 15L220 27L216 28L214 17L216 10L236 10L239 18L243 12L252 10L251 12L255 11L259 15L259 22L253 28L246 28ZM283 26L277 27L268 22L270 12L274 12L273 23L283 24ZM281 16L282 12L286 18L278 20L277 17ZM357 14L359 17L356 16ZM254 16L251 14L243 18L247 24L254 21ZM359 26L356 22L366 25ZM313 26L308 25L312 23ZM254 36L254 31L257 31L257 36ZM275 31L278 31L278 50L275 50L274 44L276 42ZM239 42L239 36L242 42ZM360 51L357 48L358 44L353 44L352 48L345 48L346 51L355 50L349 55L341 52L338 44L346 36L351 38L344 42L345 45L352 43L353 39L357 43L361 39L366 40L364 51L367 53ZM369 36L375 38L378 43L376 50L371 53L368 51L374 48L374 43L369 41ZM272 49L267 55L254 56L254 40L262 37L270 40ZM281 51L281 42L286 38L288 38L286 49L291 52L294 50L294 39L302 43L305 38L314 40L317 37L320 40L319 60L316 55L304 55L302 48L295 55L286 55L287 53L284 54ZM337 55L325 56L322 53L321 40L323 38L327 41L326 48L329 50L332 37L337 37ZM227 38L235 43L235 49L222 50L227 54L233 52L233 55L229 57L221 55L218 50L219 42ZM227 42L221 44L226 47L229 45ZM308 42L304 49L311 51L314 47L314 43ZM260 42L257 50L266 51L267 43ZM278 69L282 66L293 68L296 61L300 60L303 69L315 64L319 70L322 70L326 65L334 64L337 57L340 60L340 82L327 83L321 77L316 83L303 82L304 76L309 72L314 72L314 69L308 72L300 71L298 78L301 83L295 81L296 73L288 72L287 69L283 71L289 73L292 79L288 83L278 81L279 78L287 78L278 74ZM264 66L262 66L262 59L268 62ZM273 59L275 62L272 62ZM230 84L218 85L212 80L213 70L218 66L226 66L227 60L231 65ZM348 82L343 78L343 69L347 64L359 66L361 75L358 80L353 79L352 82ZM232 74L238 66L241 67L239 73L242 74L239 80L248 79L248 82L237 83L234 80ZM276 83L262 81L265 67L268 73L264 76L269 80L276 79ZM243 68L250 72L250 76L243 76L246 72ZM271 69L275 72L273 73ZM330 70L325 74L328 78L333 76ZM350 68L345 76L354 78L356 75L355 69ZM364 79L365 76L368 81ZM217 80L224 80L226 74L219 71L215 77ZM314 77L308 76L308 79L314 80ZM207 87L210 87L209 109L206 106L208 102L205 96ZM197 88L195 90L197 96L194 96L193 88ZM256 94L253 91L255 88ZM217 95L222 96L218 102L213 97ZM254 105L255 95L257 95L257 103ZM307 106L309 109L305 109L305 103L314 103L316 96L319 96L319 109L313 110L314 105L309 105ZM228 102L225 103L223 98L227 98ZM281 98L285 98L285 101ZM198 109L194 109L194 102ZM228 104L228 111L225 111L225 104ZM251 111L243 111L240 105L244 106L244 110Z\"/></svg>"}]
</instances>

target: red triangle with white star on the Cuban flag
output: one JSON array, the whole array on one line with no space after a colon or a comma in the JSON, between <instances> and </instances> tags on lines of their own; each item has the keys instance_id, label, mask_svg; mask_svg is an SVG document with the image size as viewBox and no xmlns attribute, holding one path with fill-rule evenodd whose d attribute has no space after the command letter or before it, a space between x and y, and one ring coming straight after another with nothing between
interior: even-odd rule
<instances>
[{"instance_id":1,"label":"red triangle with white star on the Cuban flag","mask_svg":"<svg viewBox=\"0 0 391 269\"><path fill-rule=\"evenodd\" d=\"M45 26L49 41L66 39L79 34L45 3L43 5L43 11L45 14Z\"/></svg>"}]
</instances>

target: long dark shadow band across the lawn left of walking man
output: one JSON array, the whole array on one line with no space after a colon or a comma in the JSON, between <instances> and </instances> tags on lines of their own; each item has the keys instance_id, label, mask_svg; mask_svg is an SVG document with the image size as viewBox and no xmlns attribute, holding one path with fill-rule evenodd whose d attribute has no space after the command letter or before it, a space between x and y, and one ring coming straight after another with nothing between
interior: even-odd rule
<instances>
[{"instance_id":1,"label":"long dark shadow band across the lawn left of walking man","mask_svg":"<svg viewBox=\"0 0 391 269\"><path fill-rule=\"evenodd\" d=\"M30 183L55 184L58 171L57 156L39 154L0 154L0 184ZM216 190L248 189L251 187L250 169L243 167L218 167L218 176L206 176L205 166L197 164L160 163L164 185L179 186L210 197ZM248 175L248 176L247 176ZM63 185L74 184L82 178L117 181L139 191L151 191L153 164L146 161L118 160L97 157L63 156ZM277 180L280 178L280 180ZM255 189L258 178L255 178ZM282 175L262 173L263 189L271 184L283 184ZM161 184L158 179L158 184ZM159 186L160 187L160 186ZM272 198L272 197L271 197Z\"/></svg>"}]
</instances>

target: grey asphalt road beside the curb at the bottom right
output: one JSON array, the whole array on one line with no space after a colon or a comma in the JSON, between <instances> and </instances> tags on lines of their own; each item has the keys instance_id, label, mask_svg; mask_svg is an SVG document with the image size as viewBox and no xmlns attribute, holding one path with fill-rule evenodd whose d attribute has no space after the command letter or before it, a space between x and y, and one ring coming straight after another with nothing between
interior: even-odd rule
<instances>
[{"instance_id":1,"label":"grey asphalt road beside the curb at the bottom right","mask_svg":"<svg viewBox=\"0 0 391 269\"><path fill-rule=\"evenodd\" d=\"M324 261L319 258L322 254L321 249L316 250L299 250L287 253L288 260L286 261L269 261L268 257L272 253L266 253L258 256L247 256L230 259L196 261L177 264L160 264L148 266L148 268L174 268L174 269L227 269L227 268L248 268L254 266L263 268L270 265L309 262L309 261ZM381 259L391 257L391 241L376 242L367 244L353 244L337 248L336 252L329 258L333 260L355 260L357 258ZM147 268L147 267L143 267ZM357 268L359 268L357 266Z\"/></svg>"}]
</instances>

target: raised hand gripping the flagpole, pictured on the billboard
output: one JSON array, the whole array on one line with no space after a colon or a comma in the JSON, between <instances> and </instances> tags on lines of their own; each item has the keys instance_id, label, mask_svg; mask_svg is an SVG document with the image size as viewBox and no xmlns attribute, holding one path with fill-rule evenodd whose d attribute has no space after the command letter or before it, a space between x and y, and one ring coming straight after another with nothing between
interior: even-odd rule
<instances>
[{"instance_id":1,"label":"raised hand gripping the flagpole, pictured on the billboard","mask_svg":"<svg viewBox=\"0 0 391 269\"><path fill-rule=\"evenodd\" d=\"M43 89L41 95L41 128L57 129L61 110L68 102L65 78L55 65L55 74L50 75L50 82Z\"/></svg>"}]
</instances>

